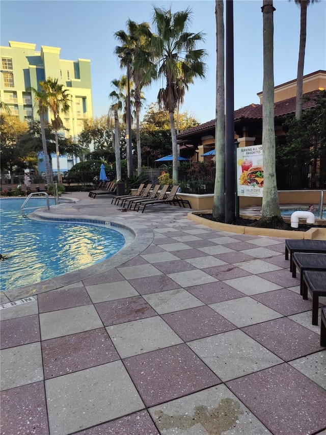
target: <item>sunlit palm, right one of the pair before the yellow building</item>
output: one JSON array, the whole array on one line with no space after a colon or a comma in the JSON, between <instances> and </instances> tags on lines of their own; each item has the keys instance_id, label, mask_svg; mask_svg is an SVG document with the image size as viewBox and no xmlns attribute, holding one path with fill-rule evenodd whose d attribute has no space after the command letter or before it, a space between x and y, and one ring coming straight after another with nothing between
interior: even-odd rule
<instances>
[{"instance_id":1,"label":"sunlit palm, right one of the pair before the yellow building","mask_svg":"<svg viewBox=\"0 0 326 435\"><path fill-rule=\"evenodd\" d=\"M63 127L63 122L60 118L60 114L65 114L69 112L70 95L67 93L67 89L64 89L64 85L60 85L58 83L58 79L53 80L51 78L48 78L46 81L40 82L40 87L47 94L48 108L53 115L51 124L53 130L55 131L58 183L60 183L61 173L58 131L61 130Z\"/></svg>"}]
</instances>

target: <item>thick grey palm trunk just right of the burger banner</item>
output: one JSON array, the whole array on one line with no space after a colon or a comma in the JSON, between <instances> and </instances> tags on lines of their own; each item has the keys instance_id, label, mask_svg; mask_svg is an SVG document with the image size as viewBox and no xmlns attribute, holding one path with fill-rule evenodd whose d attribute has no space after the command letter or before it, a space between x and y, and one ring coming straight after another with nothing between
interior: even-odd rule
<instances>
[{"instance_id":1,"label":"thick grey palm trunk just right of the burger banner","mask_svg":"<svg viewBox=\"0 0 326 435\"><path fill-rule=\"evenodd\" d=\"M257 226L284 228L276 184L274 127L274 11L273 0L263 0L263 167L264 194Z\"/></svg>"}]
</instances>

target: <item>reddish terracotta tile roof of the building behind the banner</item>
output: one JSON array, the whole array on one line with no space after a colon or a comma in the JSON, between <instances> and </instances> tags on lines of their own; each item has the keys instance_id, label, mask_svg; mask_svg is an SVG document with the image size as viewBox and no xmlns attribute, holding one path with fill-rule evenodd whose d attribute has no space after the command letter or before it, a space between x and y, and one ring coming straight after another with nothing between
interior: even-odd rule
<instances>
[{"instance_id":1,"label":"reddish terracotta tile roof of the building behind the banner","mask_svg":"<svg viewBox=\"0 0 326 435\"><path fill-rule=\"evenodd\" d=\"M308 92L305 94L306 96L313 98L319 93L318 90ZM296 97L288 98L283 101L279 101L274 105L274 113L275 118L282 118L287 115L295 114L295 99ZM313 99L309 101L303 102L303 110L308 109L309 107L313 107L315 102ZM241 119L262 119L262 105L261 104L250 104L249 106L241 107L234 111L234 121L240 121ZM215 127L215 119L211 121L205 122L203 124L199 124L196 127L192 127L191 129L184 130L183 132L177 135L177 138L180 139L183 135L189 135L190 133L198 133L205 130L210 130Z\"/></svg>"}]
</instances>

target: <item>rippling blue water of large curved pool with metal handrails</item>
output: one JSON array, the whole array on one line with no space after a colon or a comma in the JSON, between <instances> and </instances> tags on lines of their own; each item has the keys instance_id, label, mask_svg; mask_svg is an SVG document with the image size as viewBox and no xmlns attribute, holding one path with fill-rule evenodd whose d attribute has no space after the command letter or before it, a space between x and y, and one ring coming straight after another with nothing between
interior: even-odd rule
<instances>
[{"instance_id":1,"label":"rippling blue water of large curved pool with metal handrails","mask_svg":"<svg viewBox=\"0 0 326 435\"><path fill-rule=\"evenodd\" d=\"M40 222L21 215L24 198L0 199L0 290L6 291L91 266L125 244L112 228L56 221ZM44 198L28 207L45 207ZM28 210L31 213L33 210Z\"/></svg>"}]
</instances>

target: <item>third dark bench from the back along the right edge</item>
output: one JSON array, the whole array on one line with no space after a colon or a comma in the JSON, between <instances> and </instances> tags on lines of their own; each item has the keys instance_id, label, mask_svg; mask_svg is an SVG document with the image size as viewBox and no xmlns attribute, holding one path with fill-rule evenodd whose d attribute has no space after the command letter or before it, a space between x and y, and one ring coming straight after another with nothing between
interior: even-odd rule
<instances>
[{"instance_id":1,"label":"third dark bench from the back along the right edge","mask_svg":"<svg viewBox=\"0 0 326 435\"><path fill-rule=\"evenodd\" d=\"M326 272L304 270L302 292L304 299L308 299L308 290L312 296L312 324L318 325L319 296L326 296Z\"/></svg>"}]
</instances>

